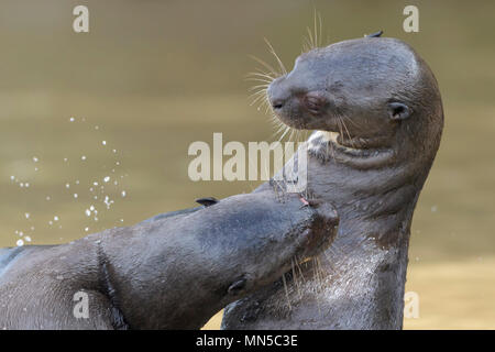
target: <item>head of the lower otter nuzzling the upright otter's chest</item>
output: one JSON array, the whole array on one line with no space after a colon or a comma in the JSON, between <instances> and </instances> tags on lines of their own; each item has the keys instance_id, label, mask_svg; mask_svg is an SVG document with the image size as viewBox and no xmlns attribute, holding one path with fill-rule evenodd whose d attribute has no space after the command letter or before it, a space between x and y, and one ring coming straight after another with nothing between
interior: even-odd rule
<instances>
[{"instance_id":1,"label":"head of the lower otter nuzzling the upright otter's chest","mask_svg":"<svg viewBox=\"0 0 495 352\"><path fill-rule=\"evenodd\" d=\"M221 252L226 254L221 260L234 264L228 275L223 273L226 300L239 299L276 282L333 242L339 218L331 205L319 204L317 208L305 209L298 195L287 197L289 200L280 205L286 215L276 215L261 207L257 213L250 212L252 219L246 220L260 223L262 231L238 237L235 245L231 245L228 239L223 241ZM273 209L273 205L270 207ZM287 215L293 216L287 218ZM226 244L229 250L223 248Z\"/></svg>"}]
</instances>

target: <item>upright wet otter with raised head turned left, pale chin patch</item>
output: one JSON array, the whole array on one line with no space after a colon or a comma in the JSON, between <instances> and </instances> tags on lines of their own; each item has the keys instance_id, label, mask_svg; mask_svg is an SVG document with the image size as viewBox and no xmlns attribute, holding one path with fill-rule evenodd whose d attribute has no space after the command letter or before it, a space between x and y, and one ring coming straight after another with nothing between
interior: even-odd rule
<instances>
[{"instance_id":1,"label":"upright wet otter with raised head turned left, pale chin patch","mask_svg":"<svg viewBox=\"0 0 495 352\"><path fill-rule=\"evenodd\" d=\"M317 130L308 193L340 226L320 267L304 265L302 295L289 285L290 306L278 282L228 306L222 328L400 329L413 212L443 127L433 74L406 43L374 35L302 54L267 97L285 124Z\"/></svg>"}]
</instances>

